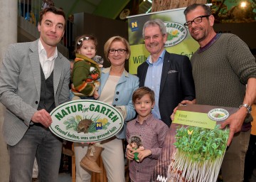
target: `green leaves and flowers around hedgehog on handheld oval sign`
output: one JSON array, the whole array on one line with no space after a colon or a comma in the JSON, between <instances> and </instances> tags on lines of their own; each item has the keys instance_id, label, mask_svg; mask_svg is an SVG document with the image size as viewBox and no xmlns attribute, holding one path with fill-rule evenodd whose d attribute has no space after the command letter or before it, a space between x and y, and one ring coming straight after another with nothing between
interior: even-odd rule
<instances>
[{"instance_id":1,"label":"green leaves and flowers around hedgehog on handheld oval sign","mask_svg":"<svg viewBox=\"0 0 256 182\"><path fill-rule=\"evenodd\" d=\"M86 116L82 118L80 115L77 115L75 117L72 116L72 117L68 117L68 119L65 120L63 124L66 125L66 130L78 132L78 124L80 121L82 121L82 119L92 120L92 124L90 124L88 128L88 133L95 133L99 131L96 129L97 122L102 123L102 129L107 129L107 126L110 125L110 123L107 121L107 118L100 119L100 115L97 115L96 117L93 117L92 115L88 118Z\"/></svg>"}]
</instances>

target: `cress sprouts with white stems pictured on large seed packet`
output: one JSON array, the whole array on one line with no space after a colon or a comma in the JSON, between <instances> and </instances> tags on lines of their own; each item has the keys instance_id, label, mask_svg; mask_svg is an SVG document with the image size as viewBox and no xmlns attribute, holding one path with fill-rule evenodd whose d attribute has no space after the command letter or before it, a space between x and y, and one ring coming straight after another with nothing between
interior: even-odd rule
<instances>
[{"instance_id":1,"label":"cress sprouts with white stems pictured on large seed packet","mask_svg":"<svg viewBox=\"0 0 256 182\"><path fill-rule=\"evenodd\" d=\"M171 170L185 181L216 181L225 154L229 129L177 127Z\"/></svg>"}]
</instances>

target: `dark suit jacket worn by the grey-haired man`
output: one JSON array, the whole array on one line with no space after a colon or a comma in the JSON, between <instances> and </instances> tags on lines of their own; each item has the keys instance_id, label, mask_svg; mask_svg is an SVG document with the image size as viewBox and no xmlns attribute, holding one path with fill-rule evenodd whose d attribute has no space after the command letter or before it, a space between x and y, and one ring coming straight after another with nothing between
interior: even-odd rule
<instances>
[{"instance_id":1,"label":"dark suit jacket worn by the grey-haired man","mask_svg":"<svg viewBox=\"0 0 256 182\"><path fill-rule=\"evenodd\" d=\"M148 67L149 64L146 62L138 67L139 87L144 86ZM193 100L196 97L191 63L187 56L166 51L159 95L161 120L170 127L170 116L178 103L182 100Z\"/></svg>"}]
</instances>

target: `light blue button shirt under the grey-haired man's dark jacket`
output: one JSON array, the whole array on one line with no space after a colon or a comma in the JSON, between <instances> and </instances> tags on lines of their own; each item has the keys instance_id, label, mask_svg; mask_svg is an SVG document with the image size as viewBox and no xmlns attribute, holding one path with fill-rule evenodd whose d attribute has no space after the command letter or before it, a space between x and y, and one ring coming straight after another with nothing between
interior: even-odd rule
<instances>
[{"instance_id":1,"label":"light blue button shirt under the grey-haired man's dark jacket","mask_svg":"<svg viewBox=\"0 0 256 182\"><path fill-rule=\"evenodd\" d=\"M152 63L151 55L146 59L146 63L149 64L149 68L146 72L146 79L144 86L149 87L155 93L155 105L152 110L152 114L157 119L161 119L159 112L159 92L160 92L160 83L161 83L161 73L164 63L164 54L166 50L164 49L158 60L155 63Z\"/></svg>"}]
</instances>

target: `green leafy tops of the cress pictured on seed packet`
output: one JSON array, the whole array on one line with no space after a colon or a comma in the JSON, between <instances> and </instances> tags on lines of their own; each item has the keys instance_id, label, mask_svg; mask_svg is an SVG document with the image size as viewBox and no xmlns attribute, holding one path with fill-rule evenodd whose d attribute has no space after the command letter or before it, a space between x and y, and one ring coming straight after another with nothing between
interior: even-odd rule
<instances>
[{"instance_id":1,"label":"green leafy tops of the cress pictured on seed packet","mask_svg":"<svg viewBox=\"0 0 256 182\"><path fill-rule=\"evenodd\" d=\"M206 161L223 155L229 130L205 129L201 127L177 127L174 146L185 152L192 161Z\"/></svg>"}]
</instances>

